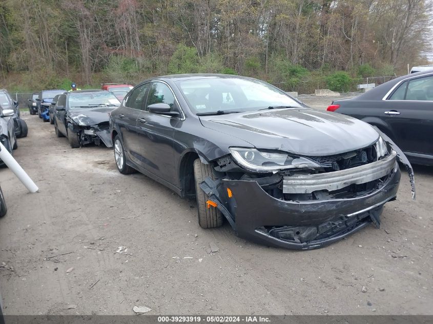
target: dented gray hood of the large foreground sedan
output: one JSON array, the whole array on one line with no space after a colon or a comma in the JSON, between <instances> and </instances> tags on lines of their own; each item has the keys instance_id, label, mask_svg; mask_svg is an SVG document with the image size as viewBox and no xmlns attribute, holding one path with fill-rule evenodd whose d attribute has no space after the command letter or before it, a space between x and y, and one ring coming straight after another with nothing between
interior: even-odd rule
<instances>
[{"instance_id":1,"label":"dented gray hood of the large foreground sedan","mask_svg":"<svg viewBox=\"0 0 433 324\"><path fill-rule=\"evenodd\" d=\"M304 156L334 155L373 144L375 129L358 119L313 109L200 116L204 127L229 134L256 148Z\"/></svg>"}]
</instances>

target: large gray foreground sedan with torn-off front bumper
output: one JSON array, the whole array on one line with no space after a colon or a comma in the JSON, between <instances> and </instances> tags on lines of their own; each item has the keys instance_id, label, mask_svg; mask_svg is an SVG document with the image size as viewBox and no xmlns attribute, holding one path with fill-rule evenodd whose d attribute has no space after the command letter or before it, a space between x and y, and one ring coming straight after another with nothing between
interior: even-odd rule
<instances>
[{"instance_id":1,"label":"large gray foreground sedan with torn-off front bumper","mask_svg":"<svg viewBox=\"0 0 433 324\"><path fill-rule=\"evenodd\" d=\"M191 74L138 84L110 114L118 170L195 197L203 228L313 249L373 223L396 199L401 150L378 129L312 110L265 82Z\"/></svg>"}]
</instances>

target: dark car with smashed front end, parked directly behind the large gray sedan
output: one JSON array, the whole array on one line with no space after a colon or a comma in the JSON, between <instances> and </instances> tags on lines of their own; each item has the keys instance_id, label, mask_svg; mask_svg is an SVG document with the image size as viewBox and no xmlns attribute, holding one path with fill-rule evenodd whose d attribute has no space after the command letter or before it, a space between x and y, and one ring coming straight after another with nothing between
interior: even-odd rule
<instances>
[{"instance_id":1,"label":"dark car with smashed front end, parked directly behind the large gray sedan","mask_svg":"<svg viewBox=\"0 0 433 324\"><path fill-rule=\"evenodd\" d=\"M66 136L72 148L87 144L111 147L109 114L120 101L106 90L66 92L53 102L57 137Z\"/></svg>"}]
</instances>

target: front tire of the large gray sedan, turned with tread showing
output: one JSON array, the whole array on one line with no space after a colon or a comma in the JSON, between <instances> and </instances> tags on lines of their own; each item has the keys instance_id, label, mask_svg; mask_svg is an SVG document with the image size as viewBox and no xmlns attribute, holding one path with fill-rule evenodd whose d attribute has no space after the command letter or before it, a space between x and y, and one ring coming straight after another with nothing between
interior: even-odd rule
<instances>
[{"instance_id":1,"label":"front tire of the large gray sedan, turned with tread showing","mask_svg":"<svg viewBox=\"0 0 433 324\"><path fill-rule=\"evenodd\" d=\"M202 228L214 228L222 225L223 218L221 212L216 208L211 206L207 207L206 202L209 200L208 195L206 195L200 188L200 182L202 182L207 177L215 180L214 169L210 164L201 163L200 159L194 161L194 179L195 179L195 193L197 200L197 211L198 211L198 224Z\"/></svg>"}]
</instances>

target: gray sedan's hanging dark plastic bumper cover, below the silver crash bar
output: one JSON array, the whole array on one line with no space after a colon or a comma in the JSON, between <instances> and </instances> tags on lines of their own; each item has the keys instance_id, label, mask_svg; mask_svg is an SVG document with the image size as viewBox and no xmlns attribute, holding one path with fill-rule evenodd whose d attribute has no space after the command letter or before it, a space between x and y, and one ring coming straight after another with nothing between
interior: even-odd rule
<instances>
[{"instance_id":1,"label":"gray sedan's hanging dark plastic bumper cover, below the silver crash bar","mask_svg":"<svg viewBox=\"0 0 433 324\"><path fill-rule=\"evenodd\" d=\"M314 249L341 240L371 222L379 226L383 205L396 198L400 177L395 162L381 186L364 196L300 202L276 199L256 181L207 178L200 187L218 204L238 236L269 246ZM292 232L288 235L294 238L282 239L280 233L276 233L278 230L274 233L265 228L289 229L288 232ZM315 231L319 239L297 239L298 232L302 236L311 231Z\"/></svg>"}]
</instances>

